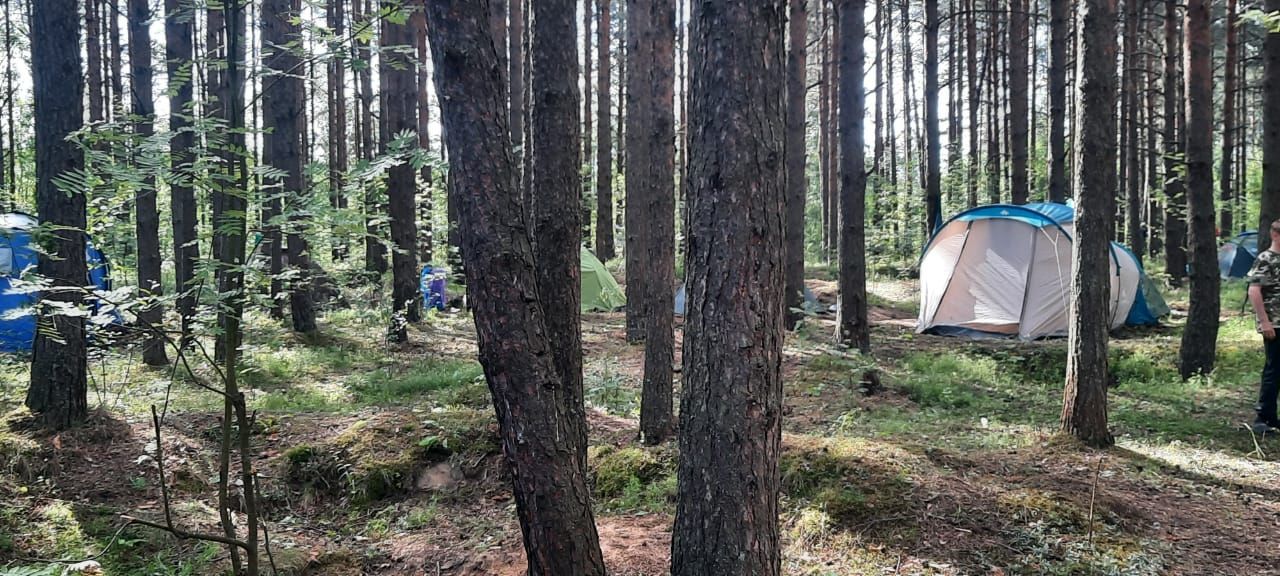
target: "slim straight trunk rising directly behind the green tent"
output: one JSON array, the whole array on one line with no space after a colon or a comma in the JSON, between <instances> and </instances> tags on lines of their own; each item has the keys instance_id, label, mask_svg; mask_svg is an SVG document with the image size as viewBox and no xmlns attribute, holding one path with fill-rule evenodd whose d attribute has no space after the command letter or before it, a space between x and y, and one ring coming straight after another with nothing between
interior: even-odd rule
<instances>
[{"instance_id":1,"label":"slim straight trunk rising directly behind the green tent","mask_svg":"<svg viewBox=\"0 0 1280 576\"><path fill-rule=\"evenodd\" d=\"M595 91L599 95L595 123L600 136L595 142L595 255L609 261L617 255L613 248L613 133L609 132L612 102L609 101L609 0L598 0L599 22L595 24L595 50L599 59L595 69Z\"/></svg>"}]
</instances>

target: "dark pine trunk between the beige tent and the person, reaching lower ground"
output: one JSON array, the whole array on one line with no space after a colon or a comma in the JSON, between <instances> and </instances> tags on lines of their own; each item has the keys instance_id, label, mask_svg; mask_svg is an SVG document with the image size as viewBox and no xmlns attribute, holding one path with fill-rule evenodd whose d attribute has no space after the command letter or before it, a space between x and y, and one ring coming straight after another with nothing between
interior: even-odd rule
<instances>
[{"instance_id":1,"label":"dark pine trunk between the beige tent and the person, reaching lower ground","mask_svg":"<svg viewBox=\"0 0 1280 576\"><path fill-rule=\"evenodd\" d=\"M1183 379L1210 374L1217 353L1217 236L1213 233L1213 35L1210 0L1187 3L1187 244L1190 308L1178 351Z\"/></svg>"}]
</instances>

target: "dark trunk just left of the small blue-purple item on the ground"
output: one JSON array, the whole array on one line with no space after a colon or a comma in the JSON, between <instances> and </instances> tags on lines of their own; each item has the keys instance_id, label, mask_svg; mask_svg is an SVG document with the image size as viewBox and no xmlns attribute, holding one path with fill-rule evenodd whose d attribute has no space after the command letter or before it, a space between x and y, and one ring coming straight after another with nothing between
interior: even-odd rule
<instances>
[{"instance_id":1,"label":"dark trunk just left of the small blue-purple item on the ground","mask_svg":"<svg viewBox=\"0 0 1280 576\"><path fill-rule=\"evenodd\" d=\"M383 9L396 3L384 4ZM406 8L402 8L404 10ZM383 52L378 74L385 87L383 102L383 154L393 140L406 132L417 133L417 74L413 65L413 31L404 23L383 19ZM396 50L385 50L394 46ZM416 145L417 141L415 140ZM422 298L417 274L417 183L413 165L407 157L387 170L387 212L392 233L392 311L416 323L422 319ZM396 338L408 337L403 324L397 324Z\"/></svg>"}]
</instances>

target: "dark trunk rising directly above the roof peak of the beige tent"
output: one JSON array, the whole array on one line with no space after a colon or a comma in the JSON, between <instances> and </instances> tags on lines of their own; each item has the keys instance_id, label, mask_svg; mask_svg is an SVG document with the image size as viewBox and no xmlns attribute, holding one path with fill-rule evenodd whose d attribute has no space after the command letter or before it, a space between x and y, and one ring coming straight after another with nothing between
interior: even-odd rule
<instances>
[{"instance_id":1,"label":"dark trunk rising directly above the roof peak of the beige tent","mask_svg":"<svg viewBox=\"0 0 1280 576\"><path fill-rule=\"evenodd\" d=\"M1010 201L1027 204L1030 182L1027 172L1027 0L1012 0L1009 10L1009 164L1012 189Z\"/></svg>"}]
</instances>

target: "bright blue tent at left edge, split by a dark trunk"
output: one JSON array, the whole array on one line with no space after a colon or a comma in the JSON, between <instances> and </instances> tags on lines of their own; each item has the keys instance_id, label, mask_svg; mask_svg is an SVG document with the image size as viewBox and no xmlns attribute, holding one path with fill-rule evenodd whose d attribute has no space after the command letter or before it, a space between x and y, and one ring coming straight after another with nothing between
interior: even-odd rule
<instances>
[{"instance_id":1,"label":"bright blue tent at left edge, split by a dark trunk","mask_svg":"<svg viewBox=\"0 0 1280 576\"><path fill-rule=\"evenodd\" d=\"M31 234L38 221L27 214L0 214L0 352L29 351L36 339L36 315L32 307L38 292L14 287L28 271L33 273L38 255ZM99 291L111 289L106 256L92 242L84 243L88 284Z\"/></svg>"}]
</instances>

